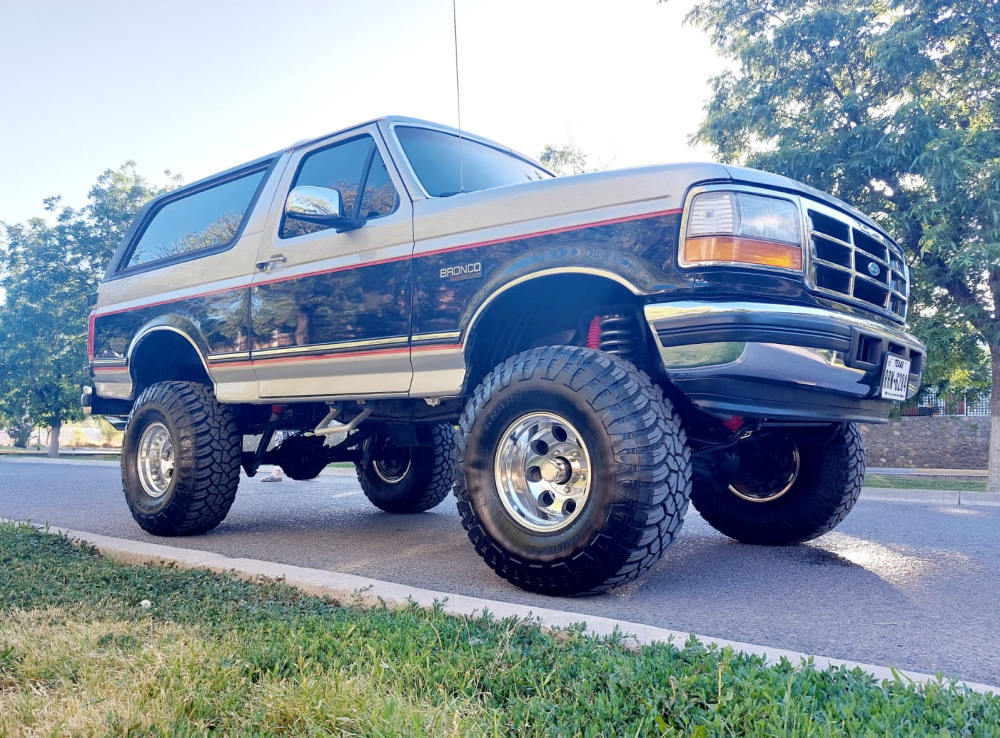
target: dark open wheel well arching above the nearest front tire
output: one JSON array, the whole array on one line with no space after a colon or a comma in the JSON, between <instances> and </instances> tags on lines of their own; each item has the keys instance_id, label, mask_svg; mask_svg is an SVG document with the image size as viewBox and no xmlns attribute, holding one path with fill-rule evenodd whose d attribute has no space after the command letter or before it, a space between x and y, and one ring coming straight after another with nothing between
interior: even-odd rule
<instances>
[{"instance_id":1,"label":"dark open wheel well arching above the nearest front tire","mask_svg":"<svg viewBox=\"0 0 1000 738\"><path fill-rule=\"evenodd\" d=\"M538 346L586 346L591 321L609 313L629 319L642 343L636 363L646 364L648 330L642 320L642 303L617 282L589 274L559 274L510 288L472 326L466 349L466 390L521 351ZM648 365L640 368L648 371Z\"/></svg>"}]
</instances>

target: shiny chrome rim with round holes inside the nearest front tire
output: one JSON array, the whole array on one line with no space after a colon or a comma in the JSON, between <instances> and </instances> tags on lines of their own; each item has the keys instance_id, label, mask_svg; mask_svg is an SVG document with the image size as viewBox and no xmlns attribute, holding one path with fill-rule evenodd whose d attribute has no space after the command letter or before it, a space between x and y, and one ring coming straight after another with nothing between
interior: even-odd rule
<instances>
[{"instance_id":1,"label":"shiny chrome rim with round holes inside the nearest front tire","mask_svg":"<svg viewBox=\"0 0 1000 738\"><path fill-rule=\"evenodd\" d=\"M590 498L590 453L565 418L531 413L500 437L494 478L500 501L518 524L555 533L572 524Z\"/></svg>"}]
</instances>

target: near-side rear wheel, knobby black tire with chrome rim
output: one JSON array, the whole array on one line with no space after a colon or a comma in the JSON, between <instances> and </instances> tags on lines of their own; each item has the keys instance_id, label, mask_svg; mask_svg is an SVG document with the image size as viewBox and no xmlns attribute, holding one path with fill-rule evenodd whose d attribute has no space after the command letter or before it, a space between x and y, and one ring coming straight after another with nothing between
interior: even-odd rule
<instances>
[{"instance_id":1,"label":"near-side rear wheel, knobby black tire with chrome rim","mask_svg":"<svg viewBox=\"0 0 1000 738\"><path fill-rule=\"evenodd\" d=\"M232 410L194 382L143 390L122 444L122 488L132 517L158 536L205 533L229 513L242 437Z\"/></svg>"}]
</instances>

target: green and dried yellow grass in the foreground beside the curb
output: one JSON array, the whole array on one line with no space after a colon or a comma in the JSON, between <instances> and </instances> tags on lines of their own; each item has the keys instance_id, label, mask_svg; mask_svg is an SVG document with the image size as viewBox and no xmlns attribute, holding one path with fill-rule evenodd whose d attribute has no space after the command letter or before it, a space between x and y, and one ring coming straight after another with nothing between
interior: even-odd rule
<instances>
[{"instance_id":1,"label":"green and dried yellow grass in the foreground beside the curb","mask_svg":"<svg viewBox=\"0 0 1000 738\"><path fill-rule=\"evenodd\" d=\"M0 525L0 735L995 734L1000 698L134 567Z\"/></svg>"}]
</instances>

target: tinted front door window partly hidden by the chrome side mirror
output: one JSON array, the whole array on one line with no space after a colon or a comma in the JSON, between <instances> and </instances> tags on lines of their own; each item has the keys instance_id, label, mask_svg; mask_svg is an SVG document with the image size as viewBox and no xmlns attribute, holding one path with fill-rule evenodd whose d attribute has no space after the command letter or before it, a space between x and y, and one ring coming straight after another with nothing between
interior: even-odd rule
<instances>
[{"instance_id":1,"label":"tinted front door window partly hidden by the chrome side mirror","mask_svg":"<svg viewBox=\"0 0 1000 738\"><path fill-rule=\"evenodd\" d=\"M371 166L366 170L369 158ZM299 185L339 190L347 216L358 212L358 192L363 189L360 216L365 220L389 215L397 205L396 188L392 186L385 161L371 136L320 149L303 158L292 181L292 187ZM317 223L286 218L279 235L281 238L292 238L326 229L327 226Z\"/></svg>"}]
</instances>

